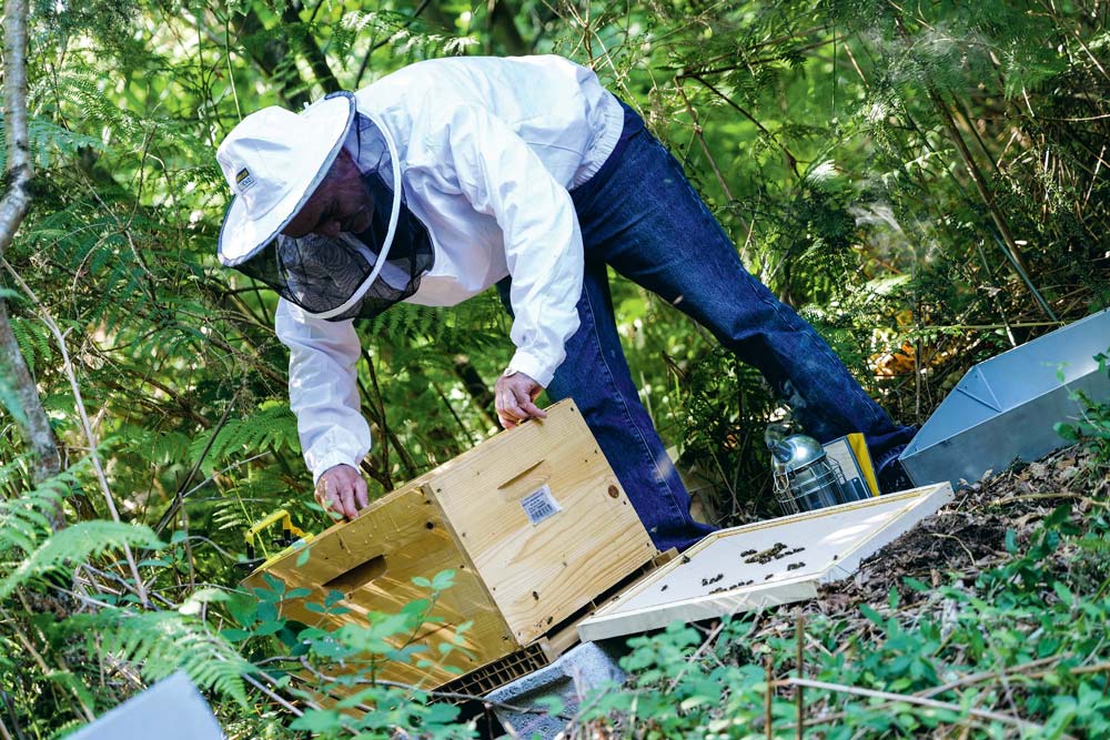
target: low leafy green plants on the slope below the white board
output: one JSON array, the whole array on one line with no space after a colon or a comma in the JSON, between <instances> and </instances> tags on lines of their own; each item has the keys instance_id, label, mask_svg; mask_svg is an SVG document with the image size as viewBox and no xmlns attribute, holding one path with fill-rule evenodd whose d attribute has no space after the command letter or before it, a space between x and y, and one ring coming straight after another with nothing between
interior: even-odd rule
<instances>
[{"instance_id":1,"label":"low leafy green plants on the slope below the white board","mask_svg":"<svg viewBox=\"0 0 1110 740\"><path fill-rule=\"evenodd\" d=\"M959 726L977 738L1101 737L1110 722L1100 627L1110 581L1101 568L1090 586L1070 553L1097 560L1107 526L1104 516L1058 507L1028 541L1008 535L1008 557L973 582L959 574L939 587L908 578L858 616L810 614L799 628L783 615L755 615L712 632L676 622L632 638L626 686L587 697L578 721L643 739L793 738L799 717L807 736L837 740L946 737ZM800 673L814 685L800 716L791 683L798 629ZM989 710L1006 695L1020 712Z\"/></svg>"}]
</instances>

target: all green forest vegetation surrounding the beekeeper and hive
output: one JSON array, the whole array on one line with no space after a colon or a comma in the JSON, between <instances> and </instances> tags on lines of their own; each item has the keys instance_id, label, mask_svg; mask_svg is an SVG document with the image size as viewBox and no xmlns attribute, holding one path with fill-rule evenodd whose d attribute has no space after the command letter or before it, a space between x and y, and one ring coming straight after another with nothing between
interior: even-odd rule
<instances>
[{"instance_id":1,"label":"all green forest vegetation surrounding the beekeeper and hive","mask_svg":"<svg viewBox=\"0 0 1110 740\"><path fill-rule=\"evenodd\" d=\"M1110 305L1108 17L1104 0L6 2L0 740L63 737L178 669L229 738L483 732L374 681L451 574L334 632L283 616L296 589L239 585L252 524L330 524L275 296L215 259L214 146L245 113L447 54L591 65L744 264L920 424L977 362ZM703 510L777 515L763 432L788 409L673 306L612 290L645 406L715 491ZM496 433L508 327L490 293L357 327L373 496ZM977 484L800 610L637 638L630 683L568 732L1104 737L1110 453L1087 405L1061 428L1078 447ZM336 686L365 711L322 706Z\"/></svg>"}]
</instances>

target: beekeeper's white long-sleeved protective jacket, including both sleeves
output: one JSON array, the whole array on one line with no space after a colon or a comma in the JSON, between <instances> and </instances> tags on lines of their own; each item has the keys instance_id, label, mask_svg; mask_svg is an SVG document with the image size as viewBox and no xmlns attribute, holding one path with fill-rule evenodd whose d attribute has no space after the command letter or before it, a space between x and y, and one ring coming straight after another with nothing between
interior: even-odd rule
<instances>
[{"instance_id":1,"label":"beekeeper's white long-sleeved protective jacket, including both sleeves","mask_svg":"<svg viewBox=\"0 0 1110 740\"><path fill-rule=\"evenodd\" d=\"M559 57L420 62L355 100L392 136L408 209L432 237L434 265L407 301L455 305L512 275L509 367L547 386L578 327L582 234L568 190L613 152L619 102ZM352 322L311 318L282 300L275 323L313 477L357 467L371 438Z\"/></svg>"}]
</instances>

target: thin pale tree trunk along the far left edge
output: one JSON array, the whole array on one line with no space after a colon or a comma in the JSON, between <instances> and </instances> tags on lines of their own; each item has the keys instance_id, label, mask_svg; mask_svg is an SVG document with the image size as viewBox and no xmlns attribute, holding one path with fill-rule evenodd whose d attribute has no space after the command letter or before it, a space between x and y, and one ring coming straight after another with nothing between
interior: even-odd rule
<instances>
[{"instance_id":1,"label":"thin pale tree trunk along the far left edge","mask_svg":"<svg viewBox=\"0 0 1110 740\"><path fill-rule=\"evenodd\" d=\"M7 190L0 201L0 259L11 245L20 223L31 207L30 145L27 136L27 0L4 2L4 128L8 136ZM33 478L40 483L58 474L58 443L42 409L39 392L27 367L8 318L0 292L0 373L6 387L2 401L11 409L23 439L34 456ZM57 523L57 524L60 524Z\"/></svg>"}]
</instances>

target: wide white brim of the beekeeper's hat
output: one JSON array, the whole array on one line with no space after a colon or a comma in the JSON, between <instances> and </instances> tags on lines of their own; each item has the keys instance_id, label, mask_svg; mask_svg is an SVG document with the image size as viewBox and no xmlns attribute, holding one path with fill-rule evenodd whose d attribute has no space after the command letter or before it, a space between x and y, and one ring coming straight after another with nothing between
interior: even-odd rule
<instances>
[{"instance_id":1,"label":"wide white brim of the beekeeper's hat","mask_svg":"<svg viewBox=\"0 0 1110 740\"><path fill-rule=\"evenodd\" d=\"M216 254L222 265L234 267L250 260L293 220L339 155L354 114L354 95L346 92L329 95L301 112L320 132L315 140L304 144L302 176L289 189L285 197L259 219L246 214L243 199L232 199L220 229Z\"/></svg>"}]
</instances>

